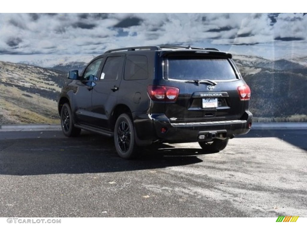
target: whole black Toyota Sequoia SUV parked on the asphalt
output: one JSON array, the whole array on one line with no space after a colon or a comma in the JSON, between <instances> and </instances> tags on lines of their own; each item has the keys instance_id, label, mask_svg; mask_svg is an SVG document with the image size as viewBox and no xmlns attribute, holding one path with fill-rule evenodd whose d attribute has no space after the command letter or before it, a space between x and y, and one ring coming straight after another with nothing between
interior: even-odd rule
<instances>
[{"instance_id":1,"label":"whole black Toyota Sequoia SUV parked on the asphalt","mask_svg":"<svg viewBox=\"0 0 307 230\"><path fill-rule=\"evenodd\" d=\"M114 137L117 153L135 157L154 142L198 142L223 150L251 128L250 88L230 53L215 48L114 49L81 75L70 71L58 101L66 136L81 129Z\"/></svg>"}]
</instances>

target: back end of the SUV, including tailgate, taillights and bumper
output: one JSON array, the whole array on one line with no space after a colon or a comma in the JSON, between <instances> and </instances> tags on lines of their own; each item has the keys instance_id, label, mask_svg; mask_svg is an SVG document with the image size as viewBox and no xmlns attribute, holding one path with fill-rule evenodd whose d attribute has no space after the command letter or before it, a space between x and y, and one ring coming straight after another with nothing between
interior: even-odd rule
<instances>
[{"instance_id":1,"label":"back end of the SUV, including tailgate, taillights and bumper","mask_svg":"<svg viewBox=\"0 0 307 230\"><path fill-rule=\"evenodd\" d=\"M167 51L161 56L163 78L148 86L158 139L197 141L208 151L220 151L228 139L249 132L251 90L230 54Z\"/></svg>"}]
</instances>

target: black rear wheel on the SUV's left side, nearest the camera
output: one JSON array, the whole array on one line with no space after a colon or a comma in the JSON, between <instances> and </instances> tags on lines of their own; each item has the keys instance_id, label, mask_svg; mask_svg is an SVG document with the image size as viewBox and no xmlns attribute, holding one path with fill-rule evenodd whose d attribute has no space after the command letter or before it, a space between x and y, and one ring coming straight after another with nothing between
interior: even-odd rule
<instances>
[{"instance_id":1,"label":"black rear wheel on the SUV's left side, nearest the camera","mask_svg":"<svg viewBox=\"0 0 307 230\"><path fill-rule=\"evenodd\" d=\"M118 155L124 159L133 159L138 155L134 125L130 116L126 113L121 114L116 120L114 144Z\"/></svg>"}]
</instances>

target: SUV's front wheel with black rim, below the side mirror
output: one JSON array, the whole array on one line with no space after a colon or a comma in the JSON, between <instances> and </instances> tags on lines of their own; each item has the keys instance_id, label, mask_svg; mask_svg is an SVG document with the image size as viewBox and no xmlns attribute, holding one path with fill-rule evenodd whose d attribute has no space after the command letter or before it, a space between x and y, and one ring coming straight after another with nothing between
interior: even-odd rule
<instances>
[{"instance_id":1,"label":"SUV's front wheel with black rim, below the side mirror","mask_svg":"<svg viewBox=\"0 0 307 230\"><path fill-rule=\"evenodd\" d=\"M61 127L65 136L78 136L80 128L74 126L74 119L70 106L65 103L61 109Z\"/></svg>"}]
</instances>

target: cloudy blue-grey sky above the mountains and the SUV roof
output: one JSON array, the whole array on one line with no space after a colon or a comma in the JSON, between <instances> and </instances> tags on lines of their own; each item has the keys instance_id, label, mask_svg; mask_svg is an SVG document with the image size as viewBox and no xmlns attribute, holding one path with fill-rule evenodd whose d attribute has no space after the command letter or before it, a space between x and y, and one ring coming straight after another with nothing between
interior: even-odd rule
<instances>
[{"instance_id":1,"label":"cloudy blue-grey sky above the mountains and the SUV roof","mask_svg":"<svg viewBox=\"0 0 307 230\"><path fill-rule=\"evenodd\" d=\"M0 13L0 60L92 57L155 44L265 58L306 56L304 13Z\"/></svg>"}]
</instances>

